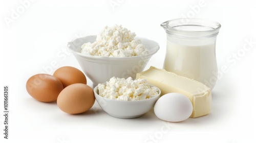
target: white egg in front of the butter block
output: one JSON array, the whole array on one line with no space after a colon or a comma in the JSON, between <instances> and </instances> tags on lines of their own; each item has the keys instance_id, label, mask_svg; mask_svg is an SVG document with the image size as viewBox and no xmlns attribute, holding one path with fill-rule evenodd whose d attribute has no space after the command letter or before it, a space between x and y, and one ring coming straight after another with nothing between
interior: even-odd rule
<instances>
[{"instance_id":1,"label":"white egg in front of the butter block","mask_svg":"<svg viewBox=\"0 0 256 143\"><path fill-rule=\"evenodd\" d=\"M190 100L181 93L167 93L160 97L154 107L158 118L168 122L186 120L193 111Z\"/></svg>"}]
</instances>

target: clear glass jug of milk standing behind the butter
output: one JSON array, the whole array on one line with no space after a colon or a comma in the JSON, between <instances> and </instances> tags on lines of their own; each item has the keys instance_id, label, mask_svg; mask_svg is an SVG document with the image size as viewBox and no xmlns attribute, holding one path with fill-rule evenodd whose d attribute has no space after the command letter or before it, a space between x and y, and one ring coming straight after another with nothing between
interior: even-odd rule
<instances>
[{"instance_id":1,"label":"clear glass jug of milk standing behind the butter","mask_svg":"<svg viewBox=\"0 0 256 143\"><path fill-rule=\"evenodd\" d=\"M220 23L206 19L173 19L161 24L167 34L163 68L214 88L218 67L216 38Z\"/></svg>"}]
</instances>

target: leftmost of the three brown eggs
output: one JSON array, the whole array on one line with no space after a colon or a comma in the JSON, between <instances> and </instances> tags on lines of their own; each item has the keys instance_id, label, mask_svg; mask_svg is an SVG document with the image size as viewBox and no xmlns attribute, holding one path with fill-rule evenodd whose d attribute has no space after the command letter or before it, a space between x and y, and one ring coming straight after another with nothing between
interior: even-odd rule
<instances>
[{"instance_id":1,"label":"leftmost of the three brown eggs","mask_svg":"<svg viewBox=\"0 0 256 143\"><path fill-rule=\"evenodd\" d=\"M41 102L52 102L57 100L63 85L52 75L37 74L28 79L26 88L34 99Z\"/></svg>"}]
</instances>

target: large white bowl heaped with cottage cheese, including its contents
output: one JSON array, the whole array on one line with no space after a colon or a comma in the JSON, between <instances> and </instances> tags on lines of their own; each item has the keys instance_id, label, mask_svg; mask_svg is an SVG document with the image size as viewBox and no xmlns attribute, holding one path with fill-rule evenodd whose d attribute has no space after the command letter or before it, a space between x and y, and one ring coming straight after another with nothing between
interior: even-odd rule
<instances>
[{"instance_id":1,"label":"large white bowl heaped with cottage cheese, including its contents","mask_svg":"<svg viewBox=\"0 0 256 143\"><path fill-rule=\"evenodd\" d=\"M157 53L159 44L115 25L98 35L77 38L68 48L95 87L112 77L135 79Z\"/></svg>"}]
</instances>

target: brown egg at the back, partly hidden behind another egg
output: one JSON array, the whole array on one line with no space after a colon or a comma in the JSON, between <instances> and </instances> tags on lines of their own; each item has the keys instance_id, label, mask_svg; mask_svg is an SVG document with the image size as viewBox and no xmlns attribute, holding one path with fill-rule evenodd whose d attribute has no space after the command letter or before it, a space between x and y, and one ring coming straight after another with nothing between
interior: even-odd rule
<instances>
[{"instance_id":1,"label":"brown egg at the back, partly hidden behind another egg","mask_svg":"<svg viewBox=\"0 0 256 143\"><path fill-rule=\"evenodd\" d=\"M58 68L53 73L53 76L62 82L64 88L74 83L87 84L86 76L84 76L82 71L72 66Z\"/></svg>"}]
</instances>

